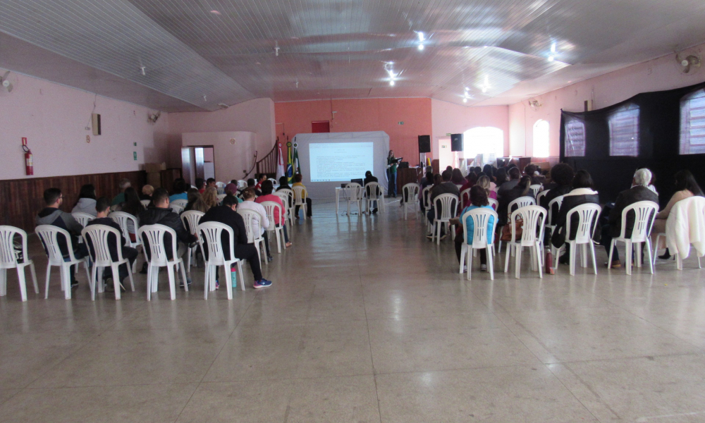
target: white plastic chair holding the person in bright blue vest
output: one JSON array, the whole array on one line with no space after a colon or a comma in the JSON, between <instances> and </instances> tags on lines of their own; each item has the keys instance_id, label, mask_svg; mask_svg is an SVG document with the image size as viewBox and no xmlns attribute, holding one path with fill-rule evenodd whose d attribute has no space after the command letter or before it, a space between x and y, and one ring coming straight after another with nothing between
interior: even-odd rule
<instances>
[{"instance_id":1,"label":"white plastic chair holding the person in bright blue vest","mask_svg":"<svg viewBox=\"0 0 705 423\"><path fill-rule=\"evenodd\" d=\"M465 264L465 256L467 256L467 280L470 281L470 273L472 272L472 253L474 250L487 251L487 269L489 270L489 278L494 281L494 233L491 233L491 238L487 238L487 226L489 226L490 218L493 218L493 225L498 222L497 212L489 209L472 209L470 212L463 214L460 217L462 223L462 247L460 250L460 271L462 274L462 266ZM467 219L472 219L472 244L467 244ZM494 229L494 227L493 227Z\"/></svg>"}]
</instances>

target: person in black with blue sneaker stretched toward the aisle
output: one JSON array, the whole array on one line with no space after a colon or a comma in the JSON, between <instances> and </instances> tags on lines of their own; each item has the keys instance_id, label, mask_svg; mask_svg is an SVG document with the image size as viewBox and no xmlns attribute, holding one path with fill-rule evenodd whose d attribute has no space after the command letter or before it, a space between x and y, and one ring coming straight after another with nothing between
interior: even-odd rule
<instances>
[{"instance_id":1,"label":"person in black with blue sneaker stretched toward the aisle","mask_svg":"<svg viewBox=\"0 0 705 423\"><path fill-rule=\"evenodd\" d=\"M250 269L252 269L252 274L255 276L255 283L252 285L255 289L266 288L271 286L271 281L267 281L262 277L262 269L259 266L259 257L257 255L257 249L255 245L247 243L247 231L245 231L245 221L243 221L243 216L240 216L235 209L238 207L238 200L235 200L233 195L226 195L223 198L223 203L221 206L212 207L206 212L206 214L201 218L201 223L205 222L219 222L226 224L233 230L233 240L235 250L232 254L238 259L247 260L250 263ZM230 237L227 232L223 231L221 235L221 242L223 246L223 257L230 259ZM205 253L208 255L207 246L204 245ZM219 269L220 270L220 269ZM216 286L219 285L218 275L219 271L216 271ZM229 281L228 281L229 283Z\"/></svg>"}]
</instances>

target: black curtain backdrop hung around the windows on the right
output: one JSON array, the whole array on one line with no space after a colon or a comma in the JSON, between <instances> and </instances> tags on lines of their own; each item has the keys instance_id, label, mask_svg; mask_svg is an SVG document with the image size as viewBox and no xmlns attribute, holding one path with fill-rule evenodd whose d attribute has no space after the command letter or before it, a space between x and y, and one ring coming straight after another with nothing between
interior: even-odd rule
<instances>
[{"instance_id":1,"label":"black curtain backdrop hung around the windows on the right","mask_svg":"<svg viewBox=\"0 0 705 423\"><path fill-rule=\"evenodd\" d=\"M630 188L634 172L649 168L656 175L656 190L661 207L675 192L673 176L689 169L701 187L705 182L705 154L679 153L680 100L705 87L705 82L676 90L642 92L604 109L560 114L560 161L575 170L590 172L601 202L613 202L620 191ZM639 155L611 157L608 117L620 107L639 106ZM565 123L577 118L585 125L585 156L565 157Z\"/></svg>"}]
</instances>

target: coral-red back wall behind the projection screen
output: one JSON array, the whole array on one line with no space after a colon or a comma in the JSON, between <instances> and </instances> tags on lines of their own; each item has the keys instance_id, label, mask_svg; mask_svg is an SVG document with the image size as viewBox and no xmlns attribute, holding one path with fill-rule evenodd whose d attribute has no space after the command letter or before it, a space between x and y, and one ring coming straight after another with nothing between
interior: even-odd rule
<instances>
[{"instance_id":1,"label":"coral-red back wall behind the projection screen","mask_svg":"<svg viewBox=\"0 0 705 423\"><path fill-rule=\"evenodd\" d=\"M396 157L404 157L412 166L419 161L418 136L431 134L431 99L427 98L286 102L275 103L274 111L280 139L311 133L312 121L330 121L331 132L337 133L384 130Z\"/></svg>"}]
</instances>

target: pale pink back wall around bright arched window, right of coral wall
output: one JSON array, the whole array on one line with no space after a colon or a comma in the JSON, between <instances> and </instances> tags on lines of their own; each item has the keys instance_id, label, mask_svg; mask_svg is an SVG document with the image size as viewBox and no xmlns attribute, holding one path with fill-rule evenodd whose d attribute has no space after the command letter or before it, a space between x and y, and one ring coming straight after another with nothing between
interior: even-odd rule
<instances>
[{"instance_id":1,"label":"pale pink back wall around bright arched window, right of coral wall","mask_svg":"<svg viewBox=\"0 0 705 423\"><path fill-rule=\"evenodd\" d=\"M447 137L446 134L460 134L466 130L479 126L494 126L504 133L504 151L509 152L509 107L508 106L484 106L465 107L458 104L443 102L441 100L431 100L431 120L433 121L433 133L431 142L434 151L439 151L439 138Z\"/></svg>"}]
</instances>

